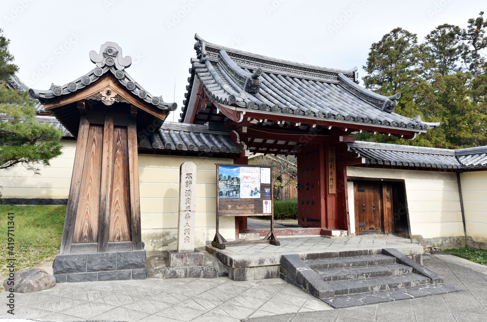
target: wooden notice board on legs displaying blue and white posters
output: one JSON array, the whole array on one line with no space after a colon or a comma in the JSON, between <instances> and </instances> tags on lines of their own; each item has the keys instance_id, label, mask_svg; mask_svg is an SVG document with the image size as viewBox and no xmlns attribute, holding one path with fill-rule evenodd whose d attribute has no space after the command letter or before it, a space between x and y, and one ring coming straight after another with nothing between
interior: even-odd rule
<instances>
[{"instance_id":1,"label":"wooden notice board on legs displaying blue and white posters","mask_svg":"<svg viewBox=\"0 0 487 322\"><path fill-rule=\"evenodd\" d=\"M272 167L246 164L216 164L216 234L211 245L281 245L274 233ZM262 240L226 241L219 232L220 216L270 216L270 232Z\"/></svg>"}]
</instances>

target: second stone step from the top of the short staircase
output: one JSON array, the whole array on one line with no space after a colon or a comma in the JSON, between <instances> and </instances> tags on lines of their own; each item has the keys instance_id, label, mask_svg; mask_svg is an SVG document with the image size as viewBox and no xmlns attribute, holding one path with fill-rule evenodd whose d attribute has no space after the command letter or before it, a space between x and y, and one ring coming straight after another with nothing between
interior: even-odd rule
<instances>
[{"instance_id":1,"label":"second stone step from the top of the short staircase","mask_svg":"<svg viewBox=\"0 0 487 322\"><path fill-rule=\"evenodd\" d=\"M384 264L351 268L319 269L317 272L323 281L329 282L402 275L412 273L412 267L401 264Z\"/></svg>"}]
</instances>

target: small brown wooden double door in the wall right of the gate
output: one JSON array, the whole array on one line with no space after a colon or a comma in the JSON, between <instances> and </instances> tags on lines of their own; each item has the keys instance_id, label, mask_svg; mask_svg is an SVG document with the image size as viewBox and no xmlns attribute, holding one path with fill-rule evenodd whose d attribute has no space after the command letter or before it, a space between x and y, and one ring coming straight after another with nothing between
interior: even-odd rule
<instances>
[{"instance_id":1,"label":"small brown wooden double door in the wall right of the gate","mask_svg":"<svg viewBox=\"0 0 487 322\"><path fill-rule=\"evenodd\" d=\"M403 182L354 181L355 233L408 233Z\"/></svg>"}]
</instances>

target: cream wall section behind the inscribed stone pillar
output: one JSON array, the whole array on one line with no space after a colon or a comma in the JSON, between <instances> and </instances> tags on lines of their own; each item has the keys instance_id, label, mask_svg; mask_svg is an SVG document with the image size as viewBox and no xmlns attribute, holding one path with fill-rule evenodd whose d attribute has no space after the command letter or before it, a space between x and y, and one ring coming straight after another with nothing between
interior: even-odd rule
<instances>
[{"instance_id":1,"label":"cream wall section behind the inscribed stone pillar","mask_svg":"<svg viewBox=\"0 0 487 322\"><path fill-rule=\"evenodd\" d=\"M178 228L179 167L196 164L195 247L213 240L216 224L216 166L231 159L139 154L140 220L145 250L175 250ZM235 238L234 217L220 217L220 233Z\"/></svg>"}]
</instances>

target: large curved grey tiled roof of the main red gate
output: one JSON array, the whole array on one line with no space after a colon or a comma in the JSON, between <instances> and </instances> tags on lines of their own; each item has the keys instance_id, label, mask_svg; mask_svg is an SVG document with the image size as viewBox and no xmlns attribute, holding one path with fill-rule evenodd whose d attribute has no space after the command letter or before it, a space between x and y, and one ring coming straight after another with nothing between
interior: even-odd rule
<instances>
[{"instance_id":1,"label":"large curved grey tiled roof of the main red gate","mask_svg":"<svg viewBox=\"0 0 487 322\"><path fill-rule=\"evenodd\" d=\"M195 38L197 58L191 59L188 93L196 77L206 94L222 105L416 132L439 126L394 113L400 94L386 97L357 85L356 68L340 71L293 63ZM183 104L180 122L188 122L188 108L193 108L188 96Z\"/></svg>"}]
</instances>

